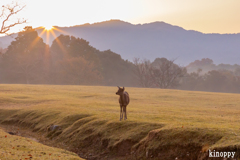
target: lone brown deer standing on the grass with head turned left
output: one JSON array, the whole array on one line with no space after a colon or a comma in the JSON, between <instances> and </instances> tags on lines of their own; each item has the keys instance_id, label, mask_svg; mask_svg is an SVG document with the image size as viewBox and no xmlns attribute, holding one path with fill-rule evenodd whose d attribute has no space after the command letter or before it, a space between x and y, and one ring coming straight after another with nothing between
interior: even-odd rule
<instances>
[{"instance_id":1,"label":"lone brown deer standing on the grass with head turned left","mask_svg":"<svg viewBox=\"0 0 240 160\"><path fill-rule=\"evenodd\" d=\"M124 115L124 120L127 119L127 105L130 102L129 95L125 90L125 88L120 88L118 87L118 91L116 92L116 95L119 95L119 104L120 104L120 121L123 119Z\"/></svg>"}]
</instances>

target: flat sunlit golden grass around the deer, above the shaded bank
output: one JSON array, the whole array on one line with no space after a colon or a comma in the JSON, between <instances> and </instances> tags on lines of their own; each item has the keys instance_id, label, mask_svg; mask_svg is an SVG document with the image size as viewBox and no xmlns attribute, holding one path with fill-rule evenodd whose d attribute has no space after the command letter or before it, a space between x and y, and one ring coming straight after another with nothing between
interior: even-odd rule
<instances>
[{"instance_id":1,"label":"flat sunlit golden grass around the deer, above the shaded bank","mask_svg":"<svg viewBox=\"0 0 240 160\"><path fill-rule=\"evenodd\" d=\"M119 118L116 87L1 85L0 109ZM239 130L240 94L126 88L128 121Z\"/></svg>"}]
</instances>

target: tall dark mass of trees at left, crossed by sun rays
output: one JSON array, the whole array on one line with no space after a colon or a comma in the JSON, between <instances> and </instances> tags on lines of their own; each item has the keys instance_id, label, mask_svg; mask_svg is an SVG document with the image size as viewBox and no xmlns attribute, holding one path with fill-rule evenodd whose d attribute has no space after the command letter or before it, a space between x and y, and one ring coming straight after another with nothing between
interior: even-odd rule
<instances>
[{"instance_id":1,"label":"tall dark mass of trees at left, crossed by sun rays","mask_svg":"<svg viewBox=\"0 0 240 160\"><path fill-rule=\"evenodd\" d=\"M0 59L1 83L134 85L133 64L84 39L60 35L51 46L25 27Z\"/></svg>"}]
</instances>

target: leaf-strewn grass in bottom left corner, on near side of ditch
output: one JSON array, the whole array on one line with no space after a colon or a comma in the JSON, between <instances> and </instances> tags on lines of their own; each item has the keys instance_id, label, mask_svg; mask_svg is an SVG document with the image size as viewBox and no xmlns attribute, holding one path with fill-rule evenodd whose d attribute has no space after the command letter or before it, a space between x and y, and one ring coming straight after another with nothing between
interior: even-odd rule
<instances>
[{"instance_id":1,"label":"leaf-strewn grass in bottom left corner, on near side of ditch","mask_svg":"<svg viewBox=\"0 0 240 160\"><path fill-rule=\"evenodd\" d=\"M29 138L12 136L0 129L0 159L68 159L80 160L72 152L48 147Z\"/></svg>"}]
</instances>

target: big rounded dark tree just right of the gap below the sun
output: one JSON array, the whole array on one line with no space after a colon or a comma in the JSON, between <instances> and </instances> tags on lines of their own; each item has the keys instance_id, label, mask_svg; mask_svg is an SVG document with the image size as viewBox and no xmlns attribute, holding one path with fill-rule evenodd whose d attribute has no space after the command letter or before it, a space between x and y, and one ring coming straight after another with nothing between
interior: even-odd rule
<instances>
[{"instance_id":1,"label":"big rounded dark tree just right of the gap below the sun","mask_svg":"<svg viewBox=\"0 0 240 160\"><path fill-rule=\"evenodd\" d=\"M86 40L60 35L52 43L51 54L54 68L52 75L56 78L56 83L101 84L101 67L97 50ZM92 80L88 77L92 77Z\"/></svg>"}]
</instances>

